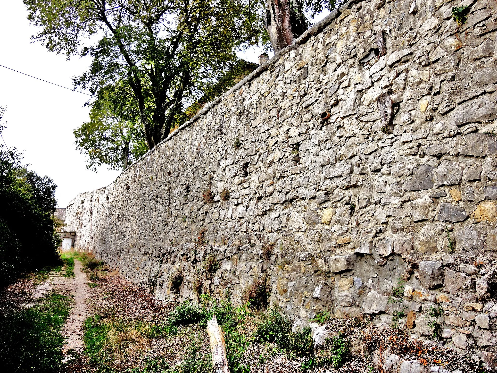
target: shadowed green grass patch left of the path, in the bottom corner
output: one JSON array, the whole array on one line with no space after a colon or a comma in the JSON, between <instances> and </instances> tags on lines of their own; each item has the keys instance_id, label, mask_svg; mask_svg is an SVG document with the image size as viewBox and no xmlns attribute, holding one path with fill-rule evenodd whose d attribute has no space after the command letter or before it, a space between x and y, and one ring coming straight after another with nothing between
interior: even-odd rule
<instances>
[{"instance_id":1,"label":"shadowed green grass patch left of the path, in the bottom corner","mask_svg":"<svg viewBox=\"0 0 497 373\"><path fill-rule=\"evenodd\" d=\"M52 293L34 307L0 316L0 366L4 372L58 372L69 298ZM16 371L17 370L17 371Z\"/></svg>"}]
</instances>

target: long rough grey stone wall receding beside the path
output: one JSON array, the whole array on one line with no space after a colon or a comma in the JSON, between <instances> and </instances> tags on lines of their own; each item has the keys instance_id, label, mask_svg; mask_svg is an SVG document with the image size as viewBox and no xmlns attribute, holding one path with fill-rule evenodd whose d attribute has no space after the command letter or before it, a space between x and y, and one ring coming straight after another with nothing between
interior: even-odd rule
<instances>
[{"instance_id":1,"label":"long rough grey stone wall receding beside the path","mask_svg":"<svg viewBox=\"0 0 497 373\"><path fill-rule=\"evenodd\" d=\"M238 302L267 276L295 325L403 310L433 339L436 317L446 346L492 364L496 30L493 0L345 4L73 199L76 246L164 300L197 299L200 279ZM209 253L220 269L205 278Z\"/></svg>"}]
</instances>

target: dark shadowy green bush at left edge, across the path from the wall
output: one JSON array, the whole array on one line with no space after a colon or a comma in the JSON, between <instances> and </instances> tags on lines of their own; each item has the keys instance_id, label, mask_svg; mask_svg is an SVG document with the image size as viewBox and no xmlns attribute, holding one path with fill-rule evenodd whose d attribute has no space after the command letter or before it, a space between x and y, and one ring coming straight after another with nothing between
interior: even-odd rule
<instances>
[{"instance_id":1,"label":"dark shadowy green bush at left edge, across the path from the wall","mask_svg":"<svg viewBox=\"0 0 497 373\"><path fill-rule=\"evenodd\" d=\"M3 113L0 107L0 134ZM53 219L56 185L21 162L22 153L0 145L0 285L59 261L61 241Z\"/></svg>"}]
</instances>

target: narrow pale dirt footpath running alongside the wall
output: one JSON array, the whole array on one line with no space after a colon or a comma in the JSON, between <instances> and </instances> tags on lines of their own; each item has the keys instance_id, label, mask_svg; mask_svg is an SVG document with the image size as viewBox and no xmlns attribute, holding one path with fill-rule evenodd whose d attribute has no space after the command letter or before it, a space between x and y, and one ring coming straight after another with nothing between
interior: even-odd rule
<instances>
[{"instance_id":1,"label":"narrow pale dirt footpath running alongside the wall","mask_svg":"<svg viewBox=\"0 0 497 373\"><path fill-rule=\"evenodd\" d=\"M75 277L70 278L71 295L74 295L74 303L71 313L64 325L63 335L67 338L67 344L64 346L64 354L68 351L83 352L83 322L88 317L88 307L86 299L89 296L89 288L86 275L81 270L81 262L74 261ZM57 287L58 283L55 282Z\"/></svg>"}]
</instances>

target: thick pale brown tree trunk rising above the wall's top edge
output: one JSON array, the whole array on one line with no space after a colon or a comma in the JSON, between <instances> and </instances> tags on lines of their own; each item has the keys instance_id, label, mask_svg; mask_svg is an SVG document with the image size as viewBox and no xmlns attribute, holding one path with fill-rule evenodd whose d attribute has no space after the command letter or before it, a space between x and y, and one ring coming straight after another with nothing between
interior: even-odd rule
<instances>
[{"instance_id":1,"label":"thick pale brown tree trunk rising above the wall's top edge","mask_svg":"<svg viewBox=\"0 0 497 373\"><path fill-rule=\"evenodd\" d=\"M267 0L264 27L275 54L295 44L295 40L307 30L302 7L296 0Z\"/></svg>"}]
</instances>

